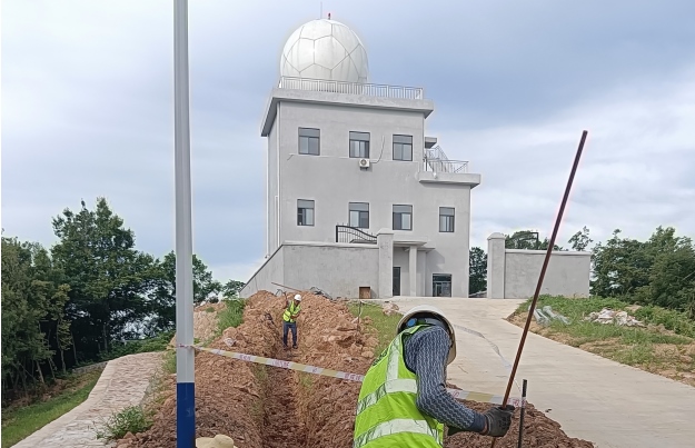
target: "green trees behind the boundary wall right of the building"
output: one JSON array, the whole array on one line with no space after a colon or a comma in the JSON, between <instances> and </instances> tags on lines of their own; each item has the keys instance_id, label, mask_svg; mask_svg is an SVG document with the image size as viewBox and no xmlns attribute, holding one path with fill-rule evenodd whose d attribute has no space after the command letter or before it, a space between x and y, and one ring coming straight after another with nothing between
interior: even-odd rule
<instances>
[{"instance_id":1,"label":"green trees behind the boundary wall right of the building","mask_svg":"<svg viewBox=\"0 0 695 448\"><path fill-rule=\"evenodd\" d=\"M553 250L587 250L594 242L584 227L567 241L569 248L557 245ZM548 238L522 230L505 235L507 249L547 250ZM590 293L623 298L642 305L686 312L695 319L695 245L688 237L676 236L672 227L657 227L646 241L623 238L616 229L613 236L592 249ZM470 293L487 288L487 255L479 247L469 252Z\"/></svg>"}]
</instances>

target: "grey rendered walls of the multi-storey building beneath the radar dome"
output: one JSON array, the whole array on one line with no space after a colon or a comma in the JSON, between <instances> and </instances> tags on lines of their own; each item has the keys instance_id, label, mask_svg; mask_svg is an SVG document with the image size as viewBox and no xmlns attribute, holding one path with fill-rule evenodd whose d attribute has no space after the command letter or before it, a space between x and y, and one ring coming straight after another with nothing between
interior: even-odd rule
<instances>
[{"instance_id":1,"label":"grey rendered walls of the multi-storey building beneath the radar dome","mask_svg":"<svg viewBox=\"0 0 695 448\"><path fill-rule=\"evenodd\" d=\"M282 241L335 242L336 225L349 222L349 202L369 203L366 230L373 235L393 227L394 205L409 205L413 230L395 231L395 241L414 237L427 240L428 249L434 249L418 253L418 265L424 263L418 295L431 295L433 273L449 273L453 296L467 297L470 189L479 183L479 175L433 177L423 172L425 117L431 111L425 107L427 102L411 101L413 108L407 109L409 102L399 100L394 102L399 108L389 109L331 101L270 102L277 110L272 125L269 119L264 123L269 129L267 250L272 252ZM320 129L320 156L298 153L300 127ZM350 131L370 133L370 168L360 169L358 159L349 157ZM393 160L394 135L413 136L413 161ZM314 226L297 226L298 199L315 201ZM439 232L439 207L455 209L455 232ZM400 266L401 292L410 293L407 260Z\"/></svg>"}]
</instances>

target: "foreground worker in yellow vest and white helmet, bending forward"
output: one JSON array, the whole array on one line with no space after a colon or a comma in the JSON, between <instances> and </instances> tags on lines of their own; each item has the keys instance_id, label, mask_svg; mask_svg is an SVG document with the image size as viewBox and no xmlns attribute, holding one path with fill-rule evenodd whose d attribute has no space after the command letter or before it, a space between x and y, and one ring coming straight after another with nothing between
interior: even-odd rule
<instances>
[{"instance_id":1,"label":"foreground worker in yellow vest and white helmet, bending forward","mask_svg":"<svg viewBox=\"0 0 695 448\"><path fill-rule=\"evenodd\" d=\"M439 448L460 431L503 437L514 406L485 414L469 409L446 390L446 367L456 358L454 327L436 307L406 312L397 336L373 362L357 401L354 448Z\"/></svg>"}]
</instances>

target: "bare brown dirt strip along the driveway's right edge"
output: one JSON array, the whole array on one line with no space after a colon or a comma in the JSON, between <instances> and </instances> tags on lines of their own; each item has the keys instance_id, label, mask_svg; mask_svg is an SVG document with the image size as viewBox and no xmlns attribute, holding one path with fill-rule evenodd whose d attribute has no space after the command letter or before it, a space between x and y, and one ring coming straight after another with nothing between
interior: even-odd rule
<instances>
[{"instance_id":1,"label":"bare brown dirt strip along the driveway's right edge","mask_svg":"<svg viewBox=\"0 0 695 448\"><path fill-rule=\"evenodd\" d=\"M512 315L507 320L517 327L524 328L528 312L520 312ZM695 340L691 344L651 344L637 348L626 346L620 341L620 338L584 342L572 335L543 327L535 320L532 320L529 330L567 346L577 347L594 355L695 387ZM663 327L648 327L639 331L653 331L668 336L675 335ZM629 350L635 350L635 356L631 356ZM645 352L645 350L648 350L648 352Z\"/></svg>"}]
</instances>

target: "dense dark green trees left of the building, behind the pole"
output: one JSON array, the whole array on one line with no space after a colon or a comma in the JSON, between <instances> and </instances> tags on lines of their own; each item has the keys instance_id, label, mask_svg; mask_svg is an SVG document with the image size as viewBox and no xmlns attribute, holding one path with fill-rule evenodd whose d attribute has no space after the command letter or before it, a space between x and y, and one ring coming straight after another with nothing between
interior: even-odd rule
<instances>
[{"instance_id":1,"label":"dense dark green trees left of the building, behind the pole","mask_svg":"<svg viewBox=\"0 0 695 448\"><path fill-rule=\"evenodd\" d=\"M136 248L135 232L98 198L52 220L50 248L2 236L2 398L47 375L110 358L115 346L176 323L176 256ZM4 233L4 231L3 231ZM193 255L193 301L232 298L244 286L212 278Z\"/></svg>"}]
</instances>

